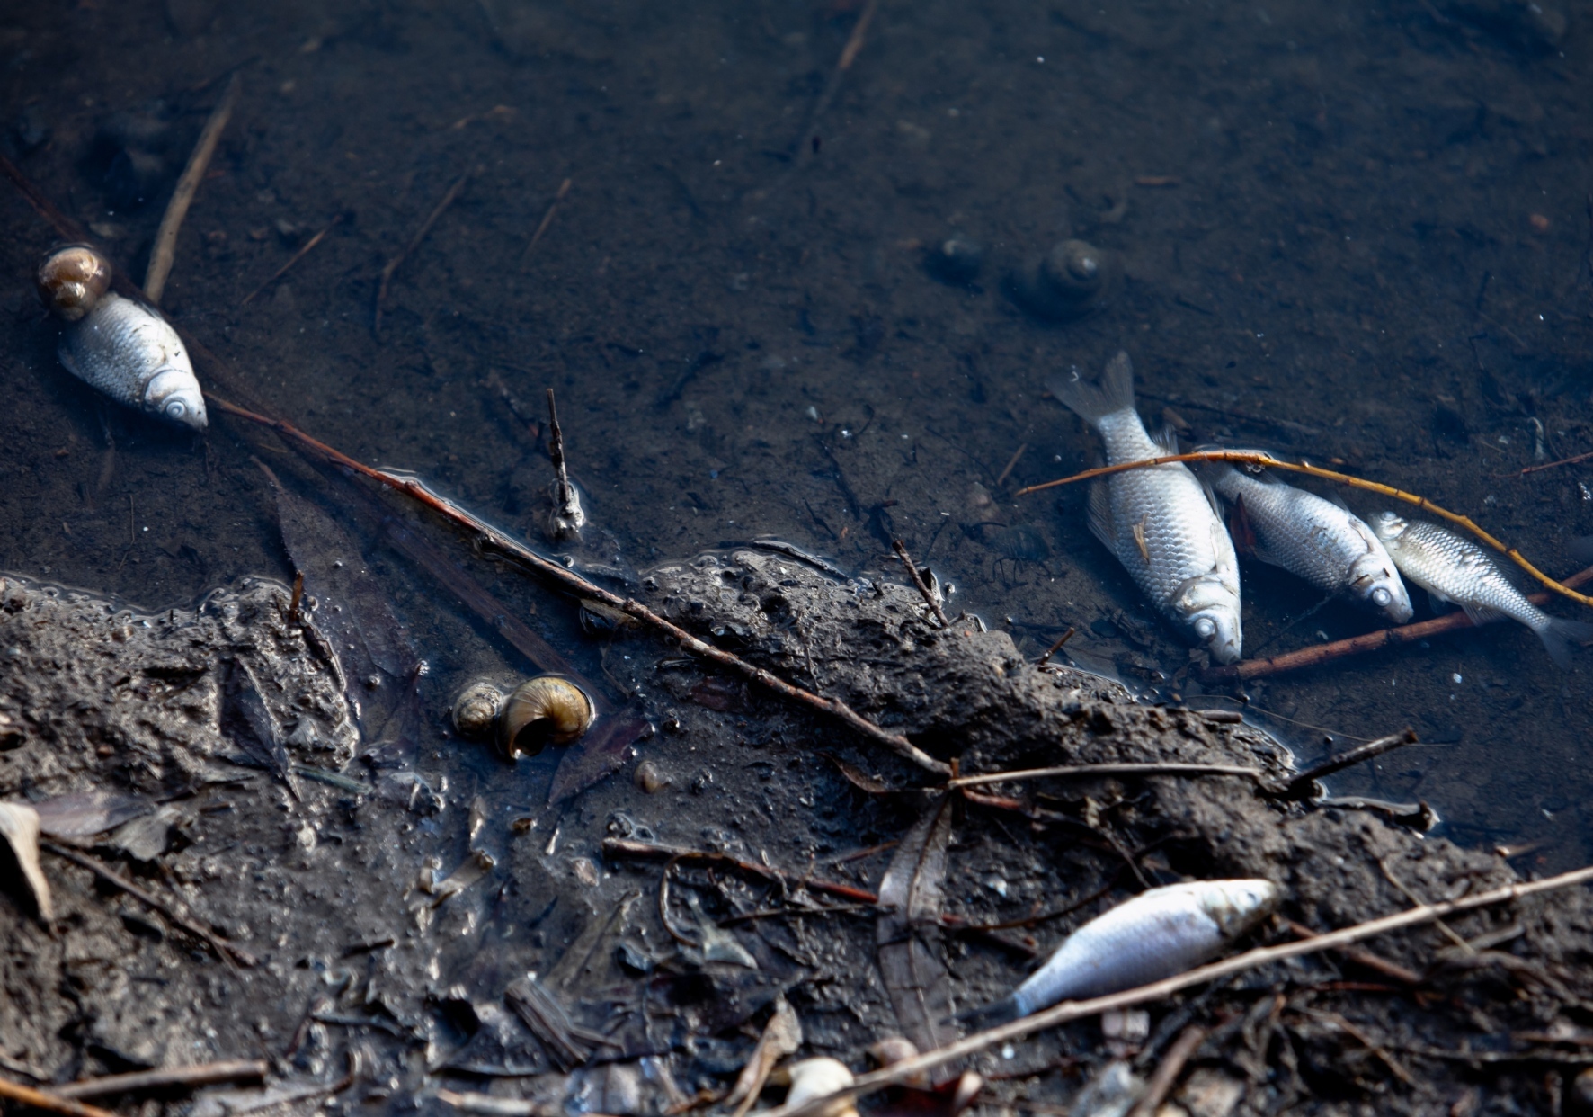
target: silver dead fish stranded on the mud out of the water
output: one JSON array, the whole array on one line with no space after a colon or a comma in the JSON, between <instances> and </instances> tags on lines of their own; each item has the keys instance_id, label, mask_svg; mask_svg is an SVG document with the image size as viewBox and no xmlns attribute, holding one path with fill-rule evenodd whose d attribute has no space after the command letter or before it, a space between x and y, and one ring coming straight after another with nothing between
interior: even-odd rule
<instances>
[{"instance_id":1,"label":"silver dead fish stranded on the mud out of the water","mask_svg":"<svg viewBox=\"0 0 1593 1117\"><path fill-rule=\"evenodd\" d=\"M1278 908L1268 880L1188 881L1141 892L1067 935L1027 982L969 1013L981 1025L1032 1015L1059 1001L1133 990L1195 969Z\"/></svg>"}]
</instances>

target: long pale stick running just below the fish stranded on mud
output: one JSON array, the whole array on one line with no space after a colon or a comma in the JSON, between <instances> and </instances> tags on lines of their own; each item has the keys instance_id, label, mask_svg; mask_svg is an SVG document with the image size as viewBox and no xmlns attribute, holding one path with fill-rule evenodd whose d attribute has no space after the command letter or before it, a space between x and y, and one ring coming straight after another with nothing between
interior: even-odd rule
<instances>
[{"instance_id":1,"label":"long pale stick running just below the fish stranded on mud","mask_svg":"<svg viewBox=\"0 0 1593 1117\"><path fill-rule=\"evenodd\" d=\"M1367 923L1357 923L1352 927L1332 931L1324 935L1317 935L1316 939L1303 939L1279 943L1276 947L1257 947L1255 950L1247 950L1243 954L1225 958L1220 962L1198 966L1196 969L1179 974L1177 977L1152 982L1150 985L1141 985L1136 990L1090 997L1088 1001L1064 1001L1058 1005L1045 1009L1043 1012L1037 1012L1032 1017L1024 1017L1023 1020L1013 1020L1012 1023L975 1033L967 1039L927 1052L918 1058L902 1060L900 1063L892 1063L890 1066L871 1074L863 1074L844 1090L836 1090L835 1093L822 1098L812 1098L800 1106L779 1106L776 1109L769 1109L766 1111L766 1117L811 1117L812 1114L828 1111L832 1103L843 1098L860 1098L863 1095L875 1093L886 1087L918 1077L926 1071L935 1069L937 1066L954 1063L977 1052L983 1052L1015 1039L1023 1039L1024 1036L1067 1023L1070 1020L1096 1017L1102 1012L1112 1012L1115 1009L1129 1009L1136 1004L1149 1004L1152 1001L1172 996L1174 993L1182 993L1184 990L1196 985L1231 977L1233 974L1244 974L1246 970L1266 966L1268 962L1314 954L1322 950L1337 950L1340 947L1360 942L1362 939L1388 934L1389 931L1416 927L1458 911L1470 911L1493 903L1504 903L1505 900L1517 900L1523 896L1552 892L1574 884L1582 884L1585 881L1593 881L1593 867L1577 868L1574 872L1548 876L1540 881L1505 884L1504 888L1477 892L1475 896L1466 896L1458 900L1427 903L1405 911L1395 911L1394 915L1386 915L1380 919L1368 919Z\"/></svg>"}]
</instances>

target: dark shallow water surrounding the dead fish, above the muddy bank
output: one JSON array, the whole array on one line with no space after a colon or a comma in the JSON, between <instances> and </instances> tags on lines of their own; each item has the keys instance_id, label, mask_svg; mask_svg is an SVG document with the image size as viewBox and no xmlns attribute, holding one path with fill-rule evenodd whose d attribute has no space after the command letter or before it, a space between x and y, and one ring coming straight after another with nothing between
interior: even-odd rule
<instances>
[{"instance_id":1,"label":"dark shallow water surrounding the dead fish, above the muddy bank","mask_svg":"<svg viewBox=\"0 0 1593 1117\"><path fill-rule=\"evenodd\" d=\"M1085 494L1012 496L1090 464L1042 384L1118 347L1141 411L1187 441L1340 462L1552 572L1593 531L1588 465L1512 476L1590 441L1593 38L1555 11L883 5L841 72L846 0L234 8L14 13L8 155L140 274L249 59L167 309L285 417L534 540L551 475L532 403L553 386L624 569L774 534L889 570L903 539L1027 652L1075 626L1080 664L1193 701L1185 645L1085 531ZM382 265L460 175L376 336ZM29 290L51 233L14 194L3 212L0 567L150 606L285 577L250 456L292 457L65 376ZM978 252L951 260L951 239ZM1082 316L1020 308L1026 269L1070 239L1118 282ZM432 664L432 725L465 679L523 666L422 570L371 561ZM473 572L585 672L650 685L660 649L616 650L515 572ZM1370 626L1265 566L1244 601L1252 652ZM1544 841L1550 867L1593 856L1590 669L1504 625L1246 695L1335 738L1413 725L1427 747L1335 789L1429 800L1462 841ZM526 766L526 800L550 771Z\"/></svg>"}]
</instances>

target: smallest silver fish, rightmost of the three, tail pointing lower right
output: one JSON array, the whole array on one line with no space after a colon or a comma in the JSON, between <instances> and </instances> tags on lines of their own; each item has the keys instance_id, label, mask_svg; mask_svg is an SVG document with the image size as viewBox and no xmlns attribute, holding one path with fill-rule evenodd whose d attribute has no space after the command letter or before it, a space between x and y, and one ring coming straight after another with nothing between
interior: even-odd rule
<instances>
[{"instance_id":1,"label":"smallest silver fish, rightmost of the three, tail pointing lower right","mask_svg":"<svg viewBox=\"0 0 1593 1117\"><path fill-rule=\"evenodd\" d=\"M1593 639L1593 625L1545 613L1517 590L1493 555L1448 527L1381 511L1372 531L1407 578L1438 601L1464 609L1474 625L1504 617L1521 621L1537 633L1548 658L1564 669L1571 668L1571 645Z\"/></svg>"}]
</instances>

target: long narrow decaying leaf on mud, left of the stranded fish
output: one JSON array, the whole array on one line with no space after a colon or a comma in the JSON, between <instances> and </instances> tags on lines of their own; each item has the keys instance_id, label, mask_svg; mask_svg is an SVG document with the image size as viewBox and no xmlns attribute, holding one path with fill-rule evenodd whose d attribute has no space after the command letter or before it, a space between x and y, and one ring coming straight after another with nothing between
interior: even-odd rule
<instances>
[{"instance_id":1,"label":"long narrow decaying leaf on mud, left of the stranded fish","mask_svg":"<svg viewBox=\"0 0 1593 1117\"><path fill-rule=\"evenodd\" d=\"M935 940L940 934L935 921L945 900L949 841L948 797L932 805L908 830L879 881L879 923L875 932L879 974L902 1034L921 1052L935 1050L949 1039L940 1023L951 1015L949 982Z\"/></svg>"}]
</instances>

